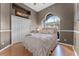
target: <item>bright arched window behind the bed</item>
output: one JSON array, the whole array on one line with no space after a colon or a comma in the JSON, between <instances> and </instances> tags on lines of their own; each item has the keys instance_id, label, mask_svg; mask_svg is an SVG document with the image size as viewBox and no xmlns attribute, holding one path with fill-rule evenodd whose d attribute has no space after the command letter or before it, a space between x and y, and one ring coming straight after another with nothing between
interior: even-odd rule
<instances>
[{"instance_id":1,"label":"bright arched window behind the bed","mask_svg":"<svg viewBox=\"0 0 79 59\"><path fill-rule=\"evenodd\" d=\"M43 20L44 28L56 28L57 29L57 38L60 41L60 17L48 14L46 15L45 20Z\"/></svg>"}]
</instances>

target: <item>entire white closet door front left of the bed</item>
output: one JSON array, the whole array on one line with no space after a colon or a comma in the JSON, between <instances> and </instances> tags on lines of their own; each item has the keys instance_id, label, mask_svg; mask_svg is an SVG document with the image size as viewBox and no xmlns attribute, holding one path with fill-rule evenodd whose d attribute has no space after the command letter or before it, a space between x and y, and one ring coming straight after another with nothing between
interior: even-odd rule
<instances>
[{"instance_id":1,"label":"entire white closet door front left of the bed","mask_svg":"<svg viewBox=\"0 0 79 59\"><path fill-rule=\"evenodd\" d=\"M18 16L11 16L12 43L21 42L26 34L31 31L31 20Z\"/></svg>"}]
</instances>

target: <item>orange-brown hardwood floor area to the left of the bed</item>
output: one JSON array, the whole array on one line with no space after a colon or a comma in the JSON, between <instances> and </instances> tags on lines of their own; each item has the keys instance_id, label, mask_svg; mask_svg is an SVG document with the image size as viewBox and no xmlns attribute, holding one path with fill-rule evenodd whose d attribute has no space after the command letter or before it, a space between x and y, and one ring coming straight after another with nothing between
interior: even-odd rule
<instances>
[{"instance_id":1,"label":"orange-brown hardwood floor area to the left of the bed","mask_svg":"<svg viewBox=\"0 0 79 59\"><path fill-rule=\"evenodd\" d=\"M21 43L16 43L13 46L0 52L0 56L31 56L31 55L32 53L26 50Z\"/></svg>"}]
</instances>

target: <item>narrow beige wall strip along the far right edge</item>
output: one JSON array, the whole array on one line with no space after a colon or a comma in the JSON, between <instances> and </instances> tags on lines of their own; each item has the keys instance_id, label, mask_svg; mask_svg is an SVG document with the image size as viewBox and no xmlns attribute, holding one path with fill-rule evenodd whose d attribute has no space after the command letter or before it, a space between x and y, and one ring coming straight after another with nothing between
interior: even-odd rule
<instances>
[{"instance_id":1,"label":"narrow beige wall strip along the far right edge","mask_svg":"<svg viewBox=\"0 0 79 59\"><path fill-rule=\"evenodd\" d=\"M79 56L79 4L74 4L75 18L74 18L74 46Z\"/></svg>"}]
</instances>

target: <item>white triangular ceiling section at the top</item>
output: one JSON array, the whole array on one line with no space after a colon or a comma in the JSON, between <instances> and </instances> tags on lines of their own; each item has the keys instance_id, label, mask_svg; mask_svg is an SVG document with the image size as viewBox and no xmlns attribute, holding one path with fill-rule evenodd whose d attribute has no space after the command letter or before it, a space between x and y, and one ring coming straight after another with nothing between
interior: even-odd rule
<instances>
[{"instance_id":1,"label":"white triangular ceiling section at the top","mask_svg":"<svg viewBox=\"0 0 79 59\"><path fill-rule=\"evenodd\" d=\"M26 6L30 7L31 9L39 12L55 3L24 3Z\"/></svg>"}]
</instances>

